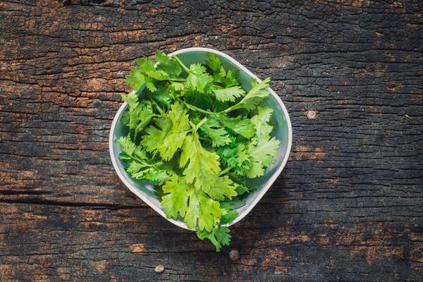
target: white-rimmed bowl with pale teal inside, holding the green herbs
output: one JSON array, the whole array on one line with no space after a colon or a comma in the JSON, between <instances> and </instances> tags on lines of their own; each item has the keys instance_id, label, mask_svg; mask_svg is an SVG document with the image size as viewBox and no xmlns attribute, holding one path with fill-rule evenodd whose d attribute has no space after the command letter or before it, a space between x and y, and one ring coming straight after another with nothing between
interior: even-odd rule
<instances>
[{"instance_id":1,"label":"white-rimmed bowl with pale teal inside, holding the green herbs","mask_svg":"<svg viewBox=\"0 0 423 282\"><path fill-rule=\"evenodd\" d=\"M207 60L207 53L214 53L216 56L221 59L223 68L226 70L238 68L240 70L239 80L245 90L250 90L251 78L255 78L256 80L261 81L257 78L256 75L251 73L250 71L245 68L245 66L235 61L235 59L231 58L226 54L223 54L221 51L216 51L214 49L209 48L186 48L180 49L175 51L171 55L178 55L179 59L185 63L185 65L190 66L191 63L205 63ZM238 216L235 220L228 224L231 226L234 223L237 223L241 219L243 219L253 207L259 202L259 200L264 196L264 194L269 190L270 186L274 183L278 175L283 170L283 167L286 165L286 161L288 161L290 147L292 144L292 128L290 123L290 118L288 116L288 111L286 111L281 98L278 95L268 88L269 90L269 99L267 99L266 103L272 109L274 109L274 114L271 119L271 123L274 125L274 131L272 135L274 135L280 142L281 145L278 148L278 154L276 156L275 164L266 168L264 176L260 178L255 178L250 180L247 185L252 188L256 188L255 192L250 194L243 204L240 207L236 207L238 211ZM116 116L114 117L114 121L111 125L110 136L109 136L109 150L110 150L110 157L111 161L114 165L116 172L118 173L119 178L121 178L122 182L132 191L140 197L144 202L146 202L152 209L158 212L161 216L165 219L166 215L164 214L163 208L157 197L154 195L154 186L152 183L149 183L147 180L136 180L128 176L125 172L125 168L123 163L119 159L119 154L121 153L121 149L119 148L118 139L121 136L125 136L128 133L127 128L125 125L121 123L121 116L123 111L125 111L127 104L123 103L121 108L118 110ZM181 228L188 229L188 227L183 223L183 221L167 219L172 223L180 226Z\"/></svg>"}]
</instances>

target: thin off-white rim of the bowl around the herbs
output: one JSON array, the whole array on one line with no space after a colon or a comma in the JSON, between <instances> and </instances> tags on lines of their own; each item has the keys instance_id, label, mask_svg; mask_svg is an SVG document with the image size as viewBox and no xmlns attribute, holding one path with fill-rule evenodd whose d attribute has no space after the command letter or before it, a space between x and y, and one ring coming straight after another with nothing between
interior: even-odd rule
<instances>
[{"instance_id":1,"label":"thin off-white rim of the bowl around the herbs","mask_svg":"<svg viewBox=\"0 0 423 282\"><path fill-rule=\"evenodd\" d=\"M209 53L214 53L214 54L217 54L219 56L222 56L225 59L227 59L228 61L231 61L231 63L233 63L235 66L237 66L237 68L240 68L241 71L247 73L247 75L250 75L250 77L255 78L259 82L262 82L262 80L259 79L257 77L257 75L255 75L254 73L252 73L251 71L249 71L241 63L239 63L238 61L236 61L235 59L233 59L231 56L229 56L229 55L227 55L227 54L225 54L225 53L223 53L221 51L217 51L215 49L204 48L204 47L189 47L189 48L184 48L184 49L179 49L179 50L173 51L170 54L168 54L168 56L183 54L183 53L190 52L190 51L206 51L206 52L209 52ZM264 187L262 188L262 190L260 190L260 192L256 195L255 199L252 200L250 206L247 207L247 209L245 209L244 212L242 212L241 214L238 214L238 216L236 217L236 219L234 221L232 221L231 223L225 224L225 226L231 226L231 225L237 223L238 221L240 221L241 219L243 219L245 216L247 216L247 214L249 214L251 212L251 210L256 206L256 204L259 202L259 200L262 199L262 197L264 196L264 194L266 194L266 192L269 190L269 188L271 187L271 185L275 182L276 178L278 178L278 176L281 174L281 172L283 171L283 168L286 166L286 163L288 161L288 157L290 155L290 149L292 147L292 142L293 142L293 130L292 130L292 125L291 125L291 122L290 122L290 117L289 117L288 111L286 110L286 107L283 104L281 98L278 96L278 94L276 94L276 92L274 92L274 90L272 90L270 87L267 87L267 90L269 91L269 93L272 96L274 96L274 98L278 102L279 106L281 106L281 109L283 111L283 114L284 114L284 116L286 118L286 123L288 124L288 147L286 149L286 154L283 157L283 160L281 162L281 165L273 173L273 175L267 181L267 183L264 185ZM121 116L122 112L125 110L126 105L127 105L127 103L124 102L121 105L121 107L118 109L118 111L116 112L116 114L114 116L114 119L113 119L113 122L111 123L111 128L110 128L110 133L109 133L109 153L110 153L110 157L111 157L111 162L112 162L112 164L114 166L114 169L115 169L116 173L118 173L118 176L121 179L121 181L123 182L123 184L125 184L125 186L131 192L133 192L135 195L137 195L137 197L139 197L142 201L144 201L146 204L148 204L149 207L152 207L152 209L154 209L158 214L160 214L161 216L163 216L166 220L171 221L171 223L175 224L176 226L179 226L180 228L184 228L184 229L187 229L187 230L192 230L192 229L188 228L188 226L186 226L186 224L183 221L177 221L175 219L168 219L166 217L166 214L164 214L164 211L161 210L159 207L157 207L156 204L154 204L153 202L151 202L147 197L144 197L144 195L142 195L141 192L135 186L133 186L127 180L125 180L125 177L122 175L121 171L119 170L118 164L117 164L116 159L114 157L113 136L114 136L114 131L115 131L115 128L116 128L116 124L118 123L119 117Z\"/></svg>"}]
</instances>

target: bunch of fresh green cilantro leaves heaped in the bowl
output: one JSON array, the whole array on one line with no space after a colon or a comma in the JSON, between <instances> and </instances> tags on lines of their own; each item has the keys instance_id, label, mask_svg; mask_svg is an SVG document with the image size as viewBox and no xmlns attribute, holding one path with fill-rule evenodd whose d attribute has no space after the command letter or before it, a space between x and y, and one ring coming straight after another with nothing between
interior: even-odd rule
<instances>
[{"instance_id":1,"label":"bunch of fresh green cilantro leaves heaped in the bowl","mask_svg":"<svg viewBox=\"0 0 423 282\"><path fill-rule=\"evenodd\" d=\"M238 215L233 205L252 192L247 178L263 176L275 161L272 109L262 105L269 81L252 80L246 92L238 70L225 70L214 54L205 65L185 66L162 51L155 62L138 59L126 78L134 91L122 94L125 170L151 180L166 216L183 220L218 252L230 243L225 225Z\"/></svg>"}]
</instances>

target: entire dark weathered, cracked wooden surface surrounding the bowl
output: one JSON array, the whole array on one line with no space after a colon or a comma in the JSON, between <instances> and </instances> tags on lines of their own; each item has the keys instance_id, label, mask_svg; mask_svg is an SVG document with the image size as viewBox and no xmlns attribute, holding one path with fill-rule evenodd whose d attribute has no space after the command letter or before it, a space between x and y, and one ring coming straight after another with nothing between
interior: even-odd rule
<instances>
[{"instance_id":1,"label":"entire dark weathered, cracked wooden surface surrounding the bowl","mask_svg":"<svg viewBox=\"0 0 423 282\"><path fill-rule=\"evenodd\" d=\"M109 159L135 59L192 46L271 76L293 123L221 253ZM423 281L422 112L422 1L0 1L0 281Z\"/></svg>"}]
</instances>

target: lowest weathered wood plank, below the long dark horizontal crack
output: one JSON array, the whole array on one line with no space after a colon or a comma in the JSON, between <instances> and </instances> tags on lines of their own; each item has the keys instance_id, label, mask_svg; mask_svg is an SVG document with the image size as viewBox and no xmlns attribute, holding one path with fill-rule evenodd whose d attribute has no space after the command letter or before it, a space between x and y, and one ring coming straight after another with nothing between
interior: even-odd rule
<instances>
[{"instance_id":1,"label":"lowest weathered wood plank, below the long dark horizontal crack","mask_svg":"<svg viewBox=\"0 0 423 282\"><path fill-rule=\"evenodd\" d=\"M417 281L422 277L421 227L311 219L295 223L295 216L281 206L276 216L256 209L237 224L232 247L239 250L240 259L232 262L227 248L215 253L194 233L172 226L149 208L1 204L0 274L17 281L374 281L380 277ZM154 273L157 264L166 267L163 274Z\"/></svg>"}]
</instances>

